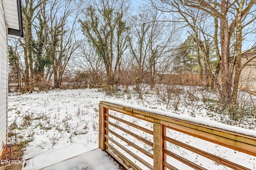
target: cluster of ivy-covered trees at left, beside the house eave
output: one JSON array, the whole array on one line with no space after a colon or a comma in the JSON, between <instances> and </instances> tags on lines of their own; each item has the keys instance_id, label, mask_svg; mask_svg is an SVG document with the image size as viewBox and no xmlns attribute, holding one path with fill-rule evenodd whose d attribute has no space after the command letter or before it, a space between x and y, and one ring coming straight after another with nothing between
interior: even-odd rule
<instances>
[{"instance_id":1,"label":"cluster of ivy-covered trees at left, beside the house eave","mask_svg":"<svg viewBox=\"0 0 256 170\"><path fill-rule=\"evenodd\" d=\"M9 46L14 56L9 57L11 86L18 84L16 90L22 93L62 86L64 71L78 48L77 11L69 0L22 1L24 38Z\"/></svg>"}]
</instances>

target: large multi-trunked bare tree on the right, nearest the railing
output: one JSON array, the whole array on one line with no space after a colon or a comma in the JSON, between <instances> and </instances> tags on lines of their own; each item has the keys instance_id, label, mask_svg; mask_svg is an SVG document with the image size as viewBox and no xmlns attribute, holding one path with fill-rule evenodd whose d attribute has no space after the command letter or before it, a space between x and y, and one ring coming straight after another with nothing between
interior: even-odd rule
<instances>
[{"instance_id":1,"label":"large multi-trunked bare tree on the right, nearest the railing","mask_svg":"<svg viewBox=\"0 0 256 170\"><path fill-rule=\"evenodd\" d=\"M190 8L193 8L202 14L211 16L211 19L214 20L214 27L212 27L214 35L212 35L212 37L218 63L220 64L219 92L221 100L224 104L236 103L241 72L243 31L256 20L255 8L253 8L255 7L256 1L240 0L230 2L229 0L222 0L219 2L217 0L164 0L156 3L152 0L151 2L159 10L166 12L174 12L182 15ZM248 20L248 17L250 17L250 20ZM187 23L188 25L190 24L190 27L198 28L198 25L195 25L193 22L188 21ZM196 41L200 44L199 39ZM204 53L207 53L207 47L205 45L206 44L200 45L200 47ZM232 53L230 51L232 47L234 49L233 55L231 55ZM209 63L206 62L206 64Z\"/></svg>"}]
</instances>

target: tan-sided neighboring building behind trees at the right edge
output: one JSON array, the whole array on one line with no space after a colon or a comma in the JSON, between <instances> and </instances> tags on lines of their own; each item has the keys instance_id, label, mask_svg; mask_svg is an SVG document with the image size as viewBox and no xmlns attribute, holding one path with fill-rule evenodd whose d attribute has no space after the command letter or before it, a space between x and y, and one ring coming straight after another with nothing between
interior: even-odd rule
<instances>
[{"instance_id":1,"label":"tan-sided neighboring building behind trees at the right edge","mask_svg":"<svg viewBox=\"0 0 256 170\"><path fill-rule=\"evenodd\" d=\"M246 53L245 53L246 52ZM256 50L243 51L241 65L256 56ZM242 69L239 88L246 92L256 94L256 58L253 58Z\"/></svg>"}]
</instances>

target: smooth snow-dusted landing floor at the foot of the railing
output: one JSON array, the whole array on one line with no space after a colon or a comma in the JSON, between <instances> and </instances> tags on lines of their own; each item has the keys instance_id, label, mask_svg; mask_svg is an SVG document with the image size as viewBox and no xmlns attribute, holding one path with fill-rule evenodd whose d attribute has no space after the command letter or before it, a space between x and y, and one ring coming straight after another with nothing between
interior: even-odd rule
<instances>
[{"instance_id":1,"label":"smooth snow-dusted landing floor at the foot of the railing","mask_svg":"<svg viewBox=\"0 0 256 170\"><path fill-rule=\"evenodd\" d=\"M68 147L45 152L26 160L22 170L122 170L106 152L100 148L84 152L86 146L74 143Z\"/></svg>"}]
</instances>

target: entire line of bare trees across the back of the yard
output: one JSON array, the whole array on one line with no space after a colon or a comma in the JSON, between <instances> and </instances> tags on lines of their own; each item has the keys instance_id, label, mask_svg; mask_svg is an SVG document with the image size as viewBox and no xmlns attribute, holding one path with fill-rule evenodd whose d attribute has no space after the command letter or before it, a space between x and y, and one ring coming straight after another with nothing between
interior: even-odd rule
<instances>
[{"instance_id":1,"label":"entire line of bare trees across the back of the yard","mask_svg":"<svg viewBox=\"0 0 256 170\"><path fill-rule=\"evenodd\" d=\"M166 74L190 73L234 104L255 10L256 0L23 0L24 39L8 50L10 84L22 93L67 82L140 93Z\"/></svg>"}]
</instances>

